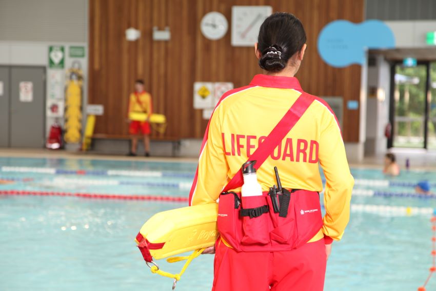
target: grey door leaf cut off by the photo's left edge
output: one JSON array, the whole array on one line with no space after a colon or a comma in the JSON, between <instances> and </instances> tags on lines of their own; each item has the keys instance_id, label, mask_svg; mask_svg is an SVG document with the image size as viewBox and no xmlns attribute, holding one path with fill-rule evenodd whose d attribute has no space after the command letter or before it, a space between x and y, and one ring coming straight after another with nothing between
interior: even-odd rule
<instances>
[{"instance_id":1,"label":"grey door leaf cut off by the photo's left edge","mask_svg":"<svg viewBox=\"0 0 436 291\"><path fill-rule=\"evenodd\" d=\"M0 67L0 147L9 146L9 67Z\"/></svg>"}]
</instances>

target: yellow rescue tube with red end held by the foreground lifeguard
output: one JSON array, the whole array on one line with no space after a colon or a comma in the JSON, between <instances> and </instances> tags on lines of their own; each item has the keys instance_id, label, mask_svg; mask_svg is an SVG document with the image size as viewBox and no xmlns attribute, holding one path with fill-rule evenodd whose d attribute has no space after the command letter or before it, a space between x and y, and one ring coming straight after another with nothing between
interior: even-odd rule
<instances>
[{"instance_id":1,"label":"yellow rescue tube with red end held by the foreground lifeguard","mask_svg":"<svg viewBox=\"0 0 436 291\"><path fill-rule=\"evenodd\" d=\"M217 237L218 204L188 206L152 216L136 236L146 261L212 246Z\"/></svg>"}]
</instances>

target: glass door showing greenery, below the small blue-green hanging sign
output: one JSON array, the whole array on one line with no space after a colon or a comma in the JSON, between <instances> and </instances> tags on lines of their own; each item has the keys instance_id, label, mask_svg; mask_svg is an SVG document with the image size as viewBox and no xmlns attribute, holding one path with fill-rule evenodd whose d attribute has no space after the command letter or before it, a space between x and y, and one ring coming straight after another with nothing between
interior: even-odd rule
<instances>
[{"instance_id":1,"label":"glass door showing greenery, below the small blue-green hanging sign","mask_svg":"<svg viewBox=\"0 0 436 291\"><path fill-rule=\"evenodd\" d=\"M428 64L415 67L403 67L397 64L394 67L393 100L391 100L393 147L425 147L427 67Z\"/></svg>"}]
</instances>

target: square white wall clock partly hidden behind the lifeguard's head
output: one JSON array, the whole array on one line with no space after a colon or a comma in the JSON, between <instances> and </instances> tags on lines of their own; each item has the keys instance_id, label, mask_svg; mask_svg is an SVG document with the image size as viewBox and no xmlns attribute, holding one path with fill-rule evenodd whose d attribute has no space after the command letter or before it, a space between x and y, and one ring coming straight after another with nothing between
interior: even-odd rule
<instances>
[{"instance_id":1,"label":"square white wall clock partly hidden behind the lifeguard's head","mask_svg":"<svg viewBox=\"0 0 436 291\"><path fill-rule=\"evenodd\" d=\"M271 13L271 6L233 6L232 46L254 46L262 23Z\"/></svg>"}]
</instances>

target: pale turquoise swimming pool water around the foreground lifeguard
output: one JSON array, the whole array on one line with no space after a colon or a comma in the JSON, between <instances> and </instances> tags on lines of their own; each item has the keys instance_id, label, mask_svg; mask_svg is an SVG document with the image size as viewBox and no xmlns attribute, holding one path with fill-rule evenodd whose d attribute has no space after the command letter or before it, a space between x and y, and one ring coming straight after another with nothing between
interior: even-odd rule
<instances>
[{"instance_id":1,"label":"pale turquoise swimming pool water around the foreground lifeguard","mask_svg":"<svg viewBox=\"0 0 436 291\"><path fill-rule=\"evenodd\" d=\"M196 168L193 163L17 158L0 158L0 166L166 173L161 177L132 177L0 171L0 179L15 180L0 185L0 190L166 196L187 196L187 184ZM387 179L379 170L352 172L356 179ZM434 174L411 171L395 179L428 179L434 183ZM83 180L102 182L77 182ZM404 187L397 190L412 191ZM436 199L417 198L353 197L352 203L436 207ZM150 273L133 240L154 213L182 206L185 204L0 195L0 290L170 290L172 280ZM416 290L431 264L429 219L422 215L352 212L343 240L333 244L325 290ZM182 263L159 263L174 273L182 267ZM212 273L213 256L200 256L177 283L176 290L209 290ZM430 280L427 290L436 290L436 278Z\"/></svg>"}]
</instances>

